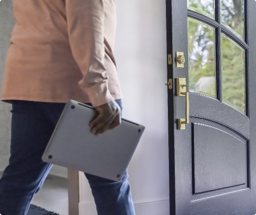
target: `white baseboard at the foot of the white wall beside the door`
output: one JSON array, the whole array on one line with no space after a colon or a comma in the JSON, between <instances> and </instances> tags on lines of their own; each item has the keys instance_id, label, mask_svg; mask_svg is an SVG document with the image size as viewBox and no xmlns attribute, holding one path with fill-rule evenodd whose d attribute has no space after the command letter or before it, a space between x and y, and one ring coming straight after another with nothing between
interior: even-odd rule
<instances>
[{"instance_id":1,"label":"white baseboard at the foot of the white wall beside the door","mask_svg":"<svg viewBox=\"0 0 256 215\"><path fill-rule=\"evenodd\" d=\"M135 203L136 215L169 215L169 200ZM79 215L97 215L94 202L79 203Z\"/></svg>"}]
</instances>

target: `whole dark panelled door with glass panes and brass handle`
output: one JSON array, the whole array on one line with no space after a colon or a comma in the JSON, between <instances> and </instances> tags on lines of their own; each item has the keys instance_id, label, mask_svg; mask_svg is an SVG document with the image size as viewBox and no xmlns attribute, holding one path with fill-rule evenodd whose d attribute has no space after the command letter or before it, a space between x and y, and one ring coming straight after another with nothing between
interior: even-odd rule
<instances>
[{"instance_id":1,"label":"whole dark panelled door with glass panes and brass handle","mask_svg":"<svg viewBox=\"0 0 256 215\"><path fill-rule=\"evenodd\" d=\"M170 214L255 215L256 1L166 0L166 20Z\"/></svg>"}]
</instances>

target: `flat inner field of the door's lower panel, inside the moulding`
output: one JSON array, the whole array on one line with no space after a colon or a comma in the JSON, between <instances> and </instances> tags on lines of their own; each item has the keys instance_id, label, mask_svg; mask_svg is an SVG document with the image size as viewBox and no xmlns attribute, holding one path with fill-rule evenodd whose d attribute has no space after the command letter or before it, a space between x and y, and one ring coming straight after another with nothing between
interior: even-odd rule
<instances>
[{"instance_id":1,"label":"flat inner field of the door's lower panel, inside the moulding","mask_svg":"<svg viewBox=\"0 0 256 215\"><path fill-rule=\"evenodd\" d=\"M247 141L192 123L193 194L247 184Z\"/></svg>"}]
</instances>

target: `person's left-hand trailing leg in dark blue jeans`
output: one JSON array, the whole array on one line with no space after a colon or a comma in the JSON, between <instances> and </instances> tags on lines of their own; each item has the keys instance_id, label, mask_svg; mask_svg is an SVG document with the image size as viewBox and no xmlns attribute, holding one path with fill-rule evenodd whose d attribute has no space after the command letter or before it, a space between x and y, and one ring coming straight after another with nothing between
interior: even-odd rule
<instances>
[{"instance_id":1,"label":"person's left-hand trailing leg in dark blue jeans","mask_svg":"<svg viewBox=\"0 0 256 215\"><path fill-rule=\"evenodd\" d=\"M33 194L41 187L52 166L43 162L41 156L55 123L39 104L13 103L11 156L0 179L1 215L25 215Z\"/></svg>"}]
</instances>

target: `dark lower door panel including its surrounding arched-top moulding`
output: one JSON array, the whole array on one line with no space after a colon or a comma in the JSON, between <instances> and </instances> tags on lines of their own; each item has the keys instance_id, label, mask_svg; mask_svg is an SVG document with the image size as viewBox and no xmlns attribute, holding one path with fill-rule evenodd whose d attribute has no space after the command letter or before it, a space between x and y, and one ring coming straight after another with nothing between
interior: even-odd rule
<instances>
[{"instance_id":1,"label":"dark lower door panel including its surrounding arched-top moulding","mask_svg":"<svg viewBox=\"0 0 256 215\"><path fill-rule=\"evenodd\" d=\"M191 202L250 190L250 140L210 119L190 117Z\"/></svg>"}]
</instances>

